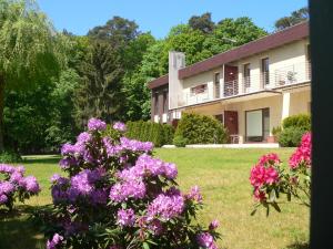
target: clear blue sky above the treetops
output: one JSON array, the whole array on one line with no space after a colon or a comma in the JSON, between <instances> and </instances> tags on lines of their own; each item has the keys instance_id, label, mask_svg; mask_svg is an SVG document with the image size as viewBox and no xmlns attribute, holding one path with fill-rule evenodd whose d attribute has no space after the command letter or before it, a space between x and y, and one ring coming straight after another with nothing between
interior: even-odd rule
<instances>
[{"instance_id":1,"label":"clear blue sky above the treetops","mask_svg":"<svg viewBox=\"0 0 333 249\"><path fill-rule=\"evenodd\" d=\"M213 21L250 17L268 31L274 21L307 4L306 0L38 0L40 9L58 30L87 34L89 29L104 24L113 15L134 20L142 31L157 38L171 27L186 23L193 14L211 12Z\"/></svg>"}]
</instances>

